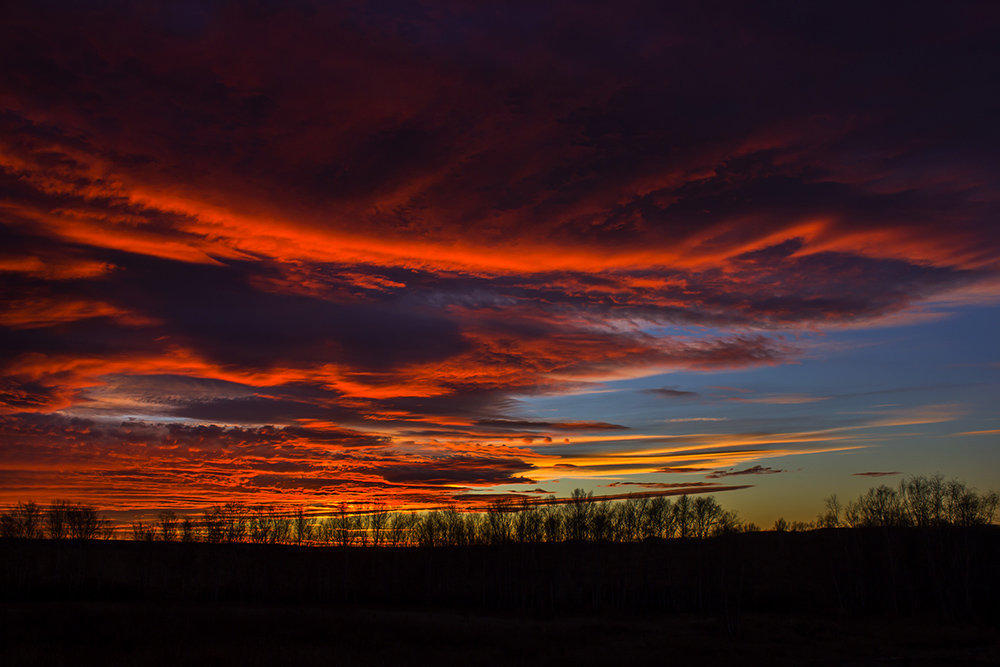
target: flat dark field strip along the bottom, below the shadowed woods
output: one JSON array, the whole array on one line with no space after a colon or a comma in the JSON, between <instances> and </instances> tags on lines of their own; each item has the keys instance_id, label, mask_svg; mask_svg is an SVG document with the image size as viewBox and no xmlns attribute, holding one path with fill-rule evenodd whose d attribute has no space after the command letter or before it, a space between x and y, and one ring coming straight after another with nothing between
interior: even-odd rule
<instances>
[{"instance_id":1,"label":"flat dark field strip along the bottom, below the shadowed woods","mask_svg":"<svg viewBox=\"0 0 1000 667\"><path fill-rule=\"evenodd\" d=\"M3 665L997 665L995 627L749 614L534 618L313 606L0 605Z\"/></svg>"}]
</instances>

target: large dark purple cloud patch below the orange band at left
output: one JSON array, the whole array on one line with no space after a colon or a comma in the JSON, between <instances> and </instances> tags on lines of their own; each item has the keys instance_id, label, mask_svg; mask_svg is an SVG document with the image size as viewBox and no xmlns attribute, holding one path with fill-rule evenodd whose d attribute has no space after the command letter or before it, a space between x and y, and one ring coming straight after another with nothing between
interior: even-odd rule
<instances>
[{"instance_id":1,"label":"large dark purple cloud patch below the orange band at left","mask_svg":"<svg viewBox=\"0 0 1000 667\"><path fill-rule=\"evenodd\" d=\"M122 269L123 301L223 364L349 361L384 369L444 359L466 345L454 322L402 303L344 304L255 290L247 274L256 270L132 258Z\"/></svg>"}]
</instances>

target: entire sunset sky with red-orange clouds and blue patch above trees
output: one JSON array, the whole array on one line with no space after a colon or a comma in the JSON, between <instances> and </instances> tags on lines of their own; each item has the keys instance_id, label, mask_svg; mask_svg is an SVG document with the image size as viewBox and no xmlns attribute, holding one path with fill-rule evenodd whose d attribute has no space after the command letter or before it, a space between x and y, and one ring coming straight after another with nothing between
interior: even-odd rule
<instances>
[{"instance_id":1,"label":"entire sunset sky with red-orange clouds and blue patch above trees","mask_svg":"<svg viewBox=\"0 0 1000 667\"><path fill-rule=\"evenodd\" d=\"M0 9L0 504L1000 484L995 2Z\"/></svg>"}]
</instances>

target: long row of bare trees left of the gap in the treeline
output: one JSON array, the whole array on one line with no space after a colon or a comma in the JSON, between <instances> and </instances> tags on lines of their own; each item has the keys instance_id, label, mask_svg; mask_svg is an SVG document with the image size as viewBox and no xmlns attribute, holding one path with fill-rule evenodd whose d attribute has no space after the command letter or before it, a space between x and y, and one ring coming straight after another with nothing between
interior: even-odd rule
<instances>
[{"instance_id":1,"label":"long row of bare trees left of the gap in the treeline","mask_svg":"<svg viewBox=\"0 0 1000 667\"><path fill-rule=\"evenodd\" d=\"M43 510L35 503L18 503L0 518L4 537L65 537L54 509L96 517L100 531L74 530L76 539L111 537L110 523L86 505L59 502ZM53 523L56 521L56 523ZM76 523L74 523L76 525ZM179 517L161 512L154 522L136 521L119 533L137 541L311 544L338 546L472 546L531 542L590 540L636 542L650 538L705 538L726 532L756 530L724 509L714 496L630 496L595 499L576 489L566 501L501 498L484 510L448 506L423 512L391 511L385 507L354 510L341 505L331 516L317 518L305 508L292 511L272 505L229 502L204 510L200 516Z\"/></svg>"}]
</instances>

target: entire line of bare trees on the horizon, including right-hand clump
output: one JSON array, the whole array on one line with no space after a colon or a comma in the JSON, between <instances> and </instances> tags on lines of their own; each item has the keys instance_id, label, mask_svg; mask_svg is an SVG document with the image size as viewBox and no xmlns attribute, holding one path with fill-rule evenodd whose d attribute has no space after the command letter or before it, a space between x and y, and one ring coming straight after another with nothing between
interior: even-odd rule
<instances>
[{"instance_id":1,"label":"entire line of bare trees on the horizon, including right-hand clump","mask_svg":"<svg viewBox=\"0 0 1000 667\"><path fill-rule=\"evenodd\" d=\"M1000 503L995 491L979 493L964 482L938 474L912 476L898 488L880 485L842 505L825 501L815 522L778 519L773 530L835 527L977 526L993 523ZM576 489L565 500L498 499L481 511L448 506L424 512L357 510L341 505L331 516L312 516L304 507L249 506L230 502L179 517L161 512L150 523L134 522L117 533L97 509L68 501L49 507L18 503L0 514L0 536L96 539L115 536L137 541L254 543L338 546L475 546L511 543L638 542L649 539L707 538L760 530L724 509L714 496L628 496L594 498Z\"/></svg>"}]
</instances>

